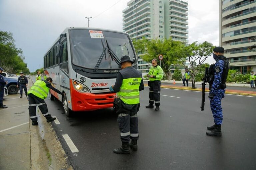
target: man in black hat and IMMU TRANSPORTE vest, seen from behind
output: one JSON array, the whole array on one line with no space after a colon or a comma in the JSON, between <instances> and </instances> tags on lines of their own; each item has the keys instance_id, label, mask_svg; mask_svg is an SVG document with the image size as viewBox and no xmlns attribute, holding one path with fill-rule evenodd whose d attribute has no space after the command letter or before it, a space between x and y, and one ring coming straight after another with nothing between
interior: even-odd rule
<instances>
[{"instance_id":1,"label":"man in black hat and IMMU TRANSPORTE vest, seen from behind","mask_svg":"<svg viewBox=\"0 0 256 170\"><path fill-rule=\"evenodd\" d=\"M114 109L118 113L117 122L120 129L122 146L114 149L114 153L128 154L130 147L137 150L138 117L140 107L139 91L144 89L142 74L132 67L133 61L125 55L121 57L122 70L117 72L115 85L109 89L117 93L114 100Z\"/></svg>"}]
</instances>

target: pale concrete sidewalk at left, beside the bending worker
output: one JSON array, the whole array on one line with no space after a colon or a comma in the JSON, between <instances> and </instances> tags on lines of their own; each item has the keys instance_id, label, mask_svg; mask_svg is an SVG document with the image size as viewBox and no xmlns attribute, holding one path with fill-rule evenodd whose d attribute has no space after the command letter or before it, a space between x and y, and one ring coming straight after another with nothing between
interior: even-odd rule
<instances>
[{"instance_id":1,"label":"pale concrete sidewalk at left, beside the bending worker","mask_svg":"<svg viewBox=\"0 0 256 170\"><path fill-rule=\"evenodd\" d=\"M29 79L28 88L33 81ZM51 123L37 109L38 126L29 119L28 101L23 92L4 98L7 109L0 109L0 169L73 169L69 166Z\"/></svg>"}]
</instances>

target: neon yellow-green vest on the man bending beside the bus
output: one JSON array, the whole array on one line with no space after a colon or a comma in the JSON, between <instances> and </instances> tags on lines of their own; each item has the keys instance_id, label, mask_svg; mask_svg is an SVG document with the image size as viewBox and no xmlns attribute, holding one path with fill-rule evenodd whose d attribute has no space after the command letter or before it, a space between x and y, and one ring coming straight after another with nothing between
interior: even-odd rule
<instances>
[{"instance_id":1,"label":"neon yellow-green vest on the man bending beside the bus","mask_svg":"<svg viewBox=\"0 0 256 170\"><path fill-rule=\"evenodd\" d=\"M46 87L46 83L42 80L38 80L34 85L29 89L28 94L32 93L33 95L39 97L40 99L45 99L48 95L49 88Z\"/></svg>"}]
</instances>

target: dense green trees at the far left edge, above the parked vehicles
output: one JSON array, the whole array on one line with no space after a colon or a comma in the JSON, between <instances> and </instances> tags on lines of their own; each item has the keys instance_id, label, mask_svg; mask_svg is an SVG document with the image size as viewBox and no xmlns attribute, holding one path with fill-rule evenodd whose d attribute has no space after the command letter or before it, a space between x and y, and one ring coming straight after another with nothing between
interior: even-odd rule
<instances>
[{"instance_id":1,"label":"dense green trees at the far left edge, above the parked vehicles","mask_svg":"<svg viewBox=\"0 0 256 170\"><path fill-rule=\"evenodd\" d=\"M0 66L10 73L29 73L22 49L16 48L12 33L0 31Z\"/></svg>"}]
</instances>

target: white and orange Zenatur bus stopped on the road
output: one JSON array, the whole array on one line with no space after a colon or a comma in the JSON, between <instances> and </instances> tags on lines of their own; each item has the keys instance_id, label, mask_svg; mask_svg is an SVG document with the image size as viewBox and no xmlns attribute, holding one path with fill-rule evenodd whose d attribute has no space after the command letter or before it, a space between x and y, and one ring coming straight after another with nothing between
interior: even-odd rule
<instances>
[{"instance_id":1,"label":"white and orange Zenatur bus stopped on the road","mask_svg":"<svg viewBox=\"0 0 256 170\"><path fill-rule=\"evenodd\" d=\"M66 28L44 55L44 74L53 79L51 100L63 103L65 114L113 107L115 83L123 55L138 62L128 34L96 28Z\"/></svg>"}]
</instances>

